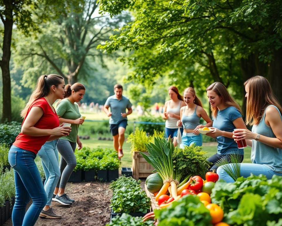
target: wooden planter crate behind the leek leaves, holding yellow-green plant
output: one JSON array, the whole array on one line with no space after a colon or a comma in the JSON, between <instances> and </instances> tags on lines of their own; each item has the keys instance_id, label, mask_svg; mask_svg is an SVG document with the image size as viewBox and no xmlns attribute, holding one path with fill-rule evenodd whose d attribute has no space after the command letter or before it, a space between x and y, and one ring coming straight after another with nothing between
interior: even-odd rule
<instances>
[{"instance_id":1,"label":"wooden planter crate behind the leek leaves, holding yellow-green plant","mask_svg":"<svg viewBox=\"0 0 282 226\"><path fill-rule=\"evenodd\" d=\"M149 155L148 152L142 153ZM152 167L139 152L134 152L132 159L132 170L133 178L138 180L139 178L146 178L152 174L154 167Z\"/></svg>"}]
</instances>

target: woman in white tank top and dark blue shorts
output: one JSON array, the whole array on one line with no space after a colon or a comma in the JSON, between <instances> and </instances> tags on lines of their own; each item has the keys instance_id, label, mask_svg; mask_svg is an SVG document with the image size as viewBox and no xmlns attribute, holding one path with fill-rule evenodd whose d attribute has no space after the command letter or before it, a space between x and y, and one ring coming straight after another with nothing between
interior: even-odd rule
<instances>
[{"instance_id":1,"label":"woman in white tank top and dark blue shorts","mask_svg":"<svg viewBox=\"0 0 282 226\"><path fill-rule=\"evenodd\" d=\"M162 118L165 119L165 134L167 138L171 138L174 147L177 146L177 121L180 119L180 108L185 106L183 97L179 94L177 87L170 86L168 88L170 100L164 104L164 114ZM180 128L181 134L183 128Z\"/></svg>"}]
</instances>

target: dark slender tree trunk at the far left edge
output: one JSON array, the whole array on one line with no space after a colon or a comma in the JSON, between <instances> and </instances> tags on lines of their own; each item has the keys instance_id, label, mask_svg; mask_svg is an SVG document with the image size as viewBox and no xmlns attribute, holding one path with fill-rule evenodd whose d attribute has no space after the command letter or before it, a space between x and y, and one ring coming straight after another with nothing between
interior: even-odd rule
<instances>
[{"instance_id":1,"label":"dark slender tree trunk at the far left edge","mask_svg":"<svg viewBox=\"0 0 282 226\"><path fill-rule=\"evenodd\" d=\"M13 29L13 9L12 6L6 5L4 23L4 38L2 45L2 60L0 67L2 70L2 81L3 81L3 112L1 121L8 120L11 122L11 78L10 78L10 58L11 58L11 40L12 40L12 29Z\"/></svg>"}]
</instances>

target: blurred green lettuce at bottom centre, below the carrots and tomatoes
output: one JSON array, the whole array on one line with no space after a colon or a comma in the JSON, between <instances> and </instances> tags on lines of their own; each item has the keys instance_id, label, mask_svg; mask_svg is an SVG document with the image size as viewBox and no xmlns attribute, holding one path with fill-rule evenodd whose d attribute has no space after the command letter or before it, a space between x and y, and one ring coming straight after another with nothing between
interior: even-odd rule
<instances>
[{"instance_id":1,"label":"blurred green lettuce at bottom centre, below the carrots and tomatoes","mask_svg":"<svg viewBox=\"0 0 282 226\"><path fill-rule=\"evenodd\" d=\"M154 212L158 226L212 226L209 210L194 195L186 195Z\"/></svg>"}]
</instances>

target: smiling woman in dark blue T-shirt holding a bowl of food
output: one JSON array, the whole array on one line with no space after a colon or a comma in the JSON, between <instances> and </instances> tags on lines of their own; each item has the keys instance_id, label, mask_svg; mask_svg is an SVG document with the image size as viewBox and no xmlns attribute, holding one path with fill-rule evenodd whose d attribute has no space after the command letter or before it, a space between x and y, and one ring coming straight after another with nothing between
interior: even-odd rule
<instances>
[{"instance_id":1,"label":"smiling woman in dark blue T-shirt holding a bowl of food","mask_svg":"<svg viewBox=\"0 0 282 226\"><path fill-rule=\"evenodd\" d=\"M214 82L207 87L207 96L212 111L213 132L206 135L218 142L217 153L207 158L212 163L210 170L216 170L215 163L226 158L230 162L230 154L239 154L240 162L244 159L244 149L238 149L234 141L234 129L247 129L241 115L239 104L228 93L226 87L220 82Z\"/></svg>"}]
</instances>

